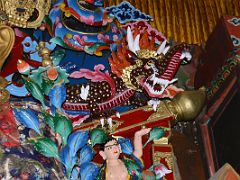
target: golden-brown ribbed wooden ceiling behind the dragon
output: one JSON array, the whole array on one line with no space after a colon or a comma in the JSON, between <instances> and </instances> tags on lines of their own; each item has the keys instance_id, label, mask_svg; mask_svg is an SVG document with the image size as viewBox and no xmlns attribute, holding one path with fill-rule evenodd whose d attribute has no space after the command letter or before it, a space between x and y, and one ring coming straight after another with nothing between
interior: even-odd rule
<instances>
[{"instance_id":1,"label":"golden-brown ribbed wooden ceiling behind the dragon","mask_svg":"<svg viewBox=\"0 0 240 180\"><path fill-rule=\"evenodd\" d=\"M105 7L123 0L105 0ZM222 15L240 16L240 0L128 0L153 17L150 24L168 39L204 43Z\"/></svg>"}]
</instances>

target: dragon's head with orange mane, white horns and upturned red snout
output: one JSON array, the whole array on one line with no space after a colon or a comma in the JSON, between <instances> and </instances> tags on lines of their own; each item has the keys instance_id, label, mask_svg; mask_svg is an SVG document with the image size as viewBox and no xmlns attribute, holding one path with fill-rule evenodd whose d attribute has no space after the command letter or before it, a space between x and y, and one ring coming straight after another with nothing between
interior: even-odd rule
<instances>
[{"instance_id":1,"label":"dragon's head with orange mane, white horns and upturned red snout","mask_svg":"<svg viewBox=\"0 0 240 180\"><path fill-rule=\"evenodd\" d=\"M127 29L127 45L123 43L109 58L112 72L122 78L125 85L145 92L152 98L162 98L183 59L190 60L187 44L173 47L164 40L160 46L148 35L133 35Z\"/></svg>"}]
</instances>

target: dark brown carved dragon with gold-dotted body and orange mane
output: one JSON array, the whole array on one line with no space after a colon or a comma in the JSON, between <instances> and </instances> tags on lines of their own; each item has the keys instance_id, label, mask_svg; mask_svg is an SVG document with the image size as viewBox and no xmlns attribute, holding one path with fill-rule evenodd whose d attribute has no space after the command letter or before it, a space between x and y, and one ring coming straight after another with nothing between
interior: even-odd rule
<instances>
[{"instance_id":1,"label":"dark brown carved dragon with gold-dotted body and orange mane","mask_svg":"<svg viewBox=\"0 0 240 180\"><path fill-rule=\"evenodd\" d=\"M128 43L128 44L127 44ZM108 117L117 106L129 103L143 106L150 99L169 97L167 90L183 59L190 60L187 44L170 48L163 41L158 49L147 35L134 35L127 30L127 43L122 42L109 58L112 73L96 65L94 70L80 69L71 78L91 80L84 85L67 85L67 100L63 109L90 111L93 118ZM156 108L156 107L155 107Z\"/></svg>"}]
</instances>

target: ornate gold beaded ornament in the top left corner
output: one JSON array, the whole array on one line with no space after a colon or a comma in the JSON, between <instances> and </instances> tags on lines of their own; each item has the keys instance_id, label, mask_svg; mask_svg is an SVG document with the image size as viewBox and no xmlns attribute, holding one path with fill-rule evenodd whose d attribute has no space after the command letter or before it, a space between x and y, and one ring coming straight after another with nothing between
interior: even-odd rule
<instances>
[{"instance_id":1,"label":"ornate gold beaded ornament in the top left corner","mask_svg":"<svg viewBox=\"0 0 240 180\"><path fill-rule=\"evenodd\" d=\"M48 14L50 7L51 0L0 0L0 11L7 16L5 21L9 25L23 28L39 27L44 16ZM38 17L33 21L29 21L35 9L38 11Z\"/></svg>"}]
</instances>

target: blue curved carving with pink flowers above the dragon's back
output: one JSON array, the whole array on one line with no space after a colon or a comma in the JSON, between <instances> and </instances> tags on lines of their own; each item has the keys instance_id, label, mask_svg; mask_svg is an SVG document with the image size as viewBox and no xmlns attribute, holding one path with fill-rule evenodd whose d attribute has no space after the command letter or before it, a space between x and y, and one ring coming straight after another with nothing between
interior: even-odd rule
<instances>
[{"instance_id":1,"label":"blue curved carving with pink flowers above the dragon's back","mask_svg":"<svg viewBox=\"0 0 240 180\"><path fill-rule=\"evenodd\" d=\"M52 42L101 56L103 50L109 50L122 38L102 5L100 1L58 1L49 14L56 37Z\"/></svg>"}]
</instances>

